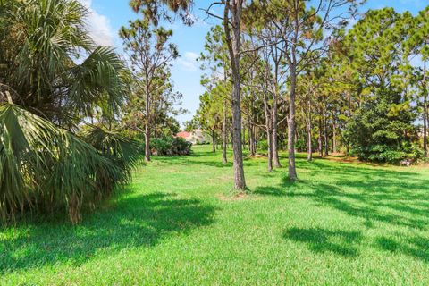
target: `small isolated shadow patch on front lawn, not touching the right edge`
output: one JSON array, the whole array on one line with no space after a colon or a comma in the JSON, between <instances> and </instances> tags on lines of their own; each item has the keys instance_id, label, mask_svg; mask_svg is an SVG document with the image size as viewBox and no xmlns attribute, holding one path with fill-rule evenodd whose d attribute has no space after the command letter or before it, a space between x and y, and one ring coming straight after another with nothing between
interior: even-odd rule
<instances>
[{"instance_id":1,"label":"small isolated shadow patch on front lawn, not touching the right edge","mask_svg":"<svg viewBox=\"0 0 429 286\"><path fill-rule=\"evenodd\" d=\"M285 240L294 240L307 244L307 247L316 252L333 252L342 257L357 257L356 245L362 240L360 231L330 231L321 228L300 229L297 227L284 231Z\"/></svg>"}]
</instances>

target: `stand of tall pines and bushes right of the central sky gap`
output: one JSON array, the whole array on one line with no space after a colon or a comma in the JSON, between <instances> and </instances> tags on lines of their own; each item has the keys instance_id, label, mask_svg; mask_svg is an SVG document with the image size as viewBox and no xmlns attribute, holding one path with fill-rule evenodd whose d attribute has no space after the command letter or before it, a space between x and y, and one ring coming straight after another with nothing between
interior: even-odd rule
<instances>
[{"instance_id":1,"label":"stand of tall pines and bushes right of the central sky gap","mask_svg":"<svg viewBox=\"0 0 429 286\"><path fill-rule=\"evenodd\" d=\"M255 154L261 140L268 170L286 146L290 181L296 150L308 160L314 150L389 163L427 156L428 8L359 14L363 3L230 0L203 9L219 26L199 59L206 93L189 126L231 142L236 189L246 188L244 143ZM158 20L168 10L186 19L193 3L132 4Z\"/></svg>"}]
</instances>

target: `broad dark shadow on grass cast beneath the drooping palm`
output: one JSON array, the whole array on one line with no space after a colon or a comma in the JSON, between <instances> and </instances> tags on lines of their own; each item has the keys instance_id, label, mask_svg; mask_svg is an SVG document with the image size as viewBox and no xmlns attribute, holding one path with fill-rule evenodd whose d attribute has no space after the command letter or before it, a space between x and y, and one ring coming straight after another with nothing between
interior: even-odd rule
<instances>
[{"instance_id":1,"label":"broad dark shadow on grass cast beneath the drooping palm","mask_svg":"<svg viewBox=\"0 0 429 286\"><path fill-rule=\"evenodd\" d=\"M12 239L0 236L0 273L56 263L81 265L99 252L152 247L173 234L213 223L213 214L213 206L197 199L155 193L122 198L78 226L21 225Z\"/></svg>"}]
</instances>

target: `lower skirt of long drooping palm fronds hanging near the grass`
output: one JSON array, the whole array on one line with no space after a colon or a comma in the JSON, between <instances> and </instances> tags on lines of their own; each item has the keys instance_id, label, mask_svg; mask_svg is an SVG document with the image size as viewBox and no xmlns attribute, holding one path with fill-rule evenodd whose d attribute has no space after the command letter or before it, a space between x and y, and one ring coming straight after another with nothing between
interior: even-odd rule
<instances>
[{"instance_id":1,"label":"lower skirt of long drooping palm fronds hanging near the grass","mask_svg":"<svg viewBox=\"0 0 429 286\"><path fill-rule=\"evenodd\" d=\"M4 223L28 210L67 210L78 223L83 206L128 179L94 147L17 105L0 107L0 162Z\"/></svg>"}]
</instances>

